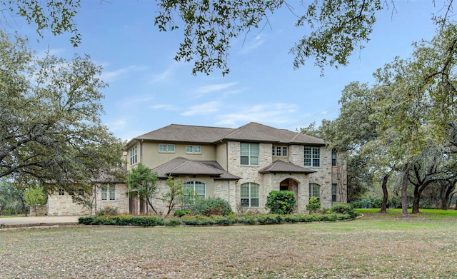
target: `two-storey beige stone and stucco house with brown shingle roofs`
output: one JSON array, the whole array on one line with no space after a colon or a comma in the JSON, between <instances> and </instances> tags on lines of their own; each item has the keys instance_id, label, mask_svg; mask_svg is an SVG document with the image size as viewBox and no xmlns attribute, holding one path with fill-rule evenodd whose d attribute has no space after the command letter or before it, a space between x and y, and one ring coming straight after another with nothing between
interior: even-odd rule
<instances>
[{"instance_id":1,"label":"two-storey beige stone and stucco house with brown shingle roofs","mask_svg":"<svg viewBox=\"0 0 457 279\"><path fill-rule=\"evenodd\" d=\"M167 191L169 176L179 178L201 198L219 197L235 211L265 211L266 197L275 190L292 191L297 212L309 198L323 208L346 202L346 162L320 138L248 123L239 128L169 125L137 136L126 144L126 165L137 163L156 172L158 196ZM161 199L154 201L166 212ZM131 213L144 205L129 200Z\"/></svg>"}]
</instances>

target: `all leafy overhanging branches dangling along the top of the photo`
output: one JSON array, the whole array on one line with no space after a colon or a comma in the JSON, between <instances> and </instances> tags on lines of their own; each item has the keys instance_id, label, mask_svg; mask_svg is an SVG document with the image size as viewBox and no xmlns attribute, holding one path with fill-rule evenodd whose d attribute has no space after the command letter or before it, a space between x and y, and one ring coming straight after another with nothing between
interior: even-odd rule
<instances>
[{"instance_id":1,"label":"all leafy overhanging branches dangling along the top of the photo","mask_svg":"<svg viewBox=\"0 0 457 279\"><path fill-rule=\"evenodd\" d=\"M434 0L432 0L434 2ZM229 73L227 61L231 41L246 36L252 29L268 26L268 18L279 9L288 9L296 18L295 26L310 30L291 47L295 56L293 67L315 59L315 65L347 65L355 49L362 49L376 23L377 12L393 7L394 0L333 0L301 1L293 7L284 0L235 0L235 1L158 1L159 14L154 23L159 31L173 31L182 25L184 39L175 56L178 61L194 61L192 73L211 73L215 68L222 74ZM45 1L37 0L4 1L0 4L9 11L23 16L29 24L35 23L41 35L49 28L53 34L70 32L74 46L81 41L74 17L79 9L79 0ZM453 15L453 0L445 1L439 7L436 20L446 21Z\"/></svg>"}]
</instances>

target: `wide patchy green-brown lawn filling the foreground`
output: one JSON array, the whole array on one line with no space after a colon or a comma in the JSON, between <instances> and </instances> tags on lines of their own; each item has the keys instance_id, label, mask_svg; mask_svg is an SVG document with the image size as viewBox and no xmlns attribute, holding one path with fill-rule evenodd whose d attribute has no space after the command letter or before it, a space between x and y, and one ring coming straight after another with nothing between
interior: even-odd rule
<instances>
[{"instance_id":1,"label":"wide patchy green-brown lawn filling the foreground","mask_svg":"<svg viewBox=\"0 0 457 279\"><path fill-rule=\"evenodd\" d=\"M455 210L223 227L0 231L1 278L456 278Z\"/></svg>"}]
</instances>

